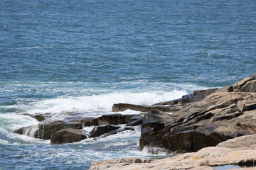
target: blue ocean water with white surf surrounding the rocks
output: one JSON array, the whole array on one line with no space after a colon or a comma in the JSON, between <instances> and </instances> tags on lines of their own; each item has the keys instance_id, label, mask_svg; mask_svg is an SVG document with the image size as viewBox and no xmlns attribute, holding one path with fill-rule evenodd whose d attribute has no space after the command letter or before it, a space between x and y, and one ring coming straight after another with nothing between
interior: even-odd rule
<instances>
[{"instance_id":1,"label":"blue ocean water with white surf surrounding the rocks","mask_svg":"<svg viewBox=\"0 0 256 170\"><path fill-rule=\"evenodd\" d=\"M250 77L255 16L252 0L2 0L0 169L169 156L139 152L139 129L68 145L13 131L38 124L23 113L97 117L114 103L149 105Z\"/></svg>"}]
</instances>

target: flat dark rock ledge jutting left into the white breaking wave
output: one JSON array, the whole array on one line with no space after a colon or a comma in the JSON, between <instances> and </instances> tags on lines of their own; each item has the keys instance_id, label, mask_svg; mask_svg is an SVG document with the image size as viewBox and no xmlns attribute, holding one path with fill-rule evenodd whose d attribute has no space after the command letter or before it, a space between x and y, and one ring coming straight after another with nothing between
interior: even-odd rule
<instances>
[{"instance_id":1,"label":"flat dark rock ledge jutting left into the white breaking wave","mask_svg":"<svg viewBox=\"0 0 256 170\"><path fill-rule=\"evenodd\" d=\"M149 106L139 106L139 105L128 104L128 103L117 103L117 104L114 104L112 107L113 112L126 111L127 109L132 111L148 112Z\"/></svg>"}]
</instances>

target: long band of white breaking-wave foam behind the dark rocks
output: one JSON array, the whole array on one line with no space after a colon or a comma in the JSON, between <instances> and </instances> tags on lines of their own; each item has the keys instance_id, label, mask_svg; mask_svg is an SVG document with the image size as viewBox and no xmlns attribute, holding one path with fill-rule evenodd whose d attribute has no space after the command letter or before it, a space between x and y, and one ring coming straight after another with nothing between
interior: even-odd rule
<instances>
[{"instance_id":1,"label":"long band of white breaking-wave foam behind the dark rocks","mask_svg":"<svg viewBox=\"0 0 256 170\"><path fill-rule=\"evenodd\" d=\"M63 112L111 112L114 103L151 105L161 101L170 101L187 94L186 91L173 90L151 92L112 92L92 96L53 98L36 101L31 106L22 106L27 113L63 113Z\"/></svg>"}]
</instances>

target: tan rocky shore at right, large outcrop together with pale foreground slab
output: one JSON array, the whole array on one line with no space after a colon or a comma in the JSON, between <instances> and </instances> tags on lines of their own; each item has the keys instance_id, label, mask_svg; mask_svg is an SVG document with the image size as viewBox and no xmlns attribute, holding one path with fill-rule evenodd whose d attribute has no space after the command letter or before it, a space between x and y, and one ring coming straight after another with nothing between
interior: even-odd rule
<instances>
[{"instance_id":1,"label":"tan rocky shore at right, large outcrop together with pale foreground slab","mask_svg":"<svg viewBox=\"0 0 256 170\"><path fill-rule=\"evenodd\" d=\"M234 169L255 169L256 73L233 86L224 86L209 94L206 91L197 101L189 101L170 116L163 111L149 111L142 118L141 149L165 147L183 154L165 159L92 162L90 169L214 169L217 166L225 169L228 165ZM198 113L201 113L199 117L194 116ZM188 120L191 115L193 118ZM187 127L196 126L181 127L186 123ZM175 131L175 126L179 131Z\"/></svg>"}]
</instances>

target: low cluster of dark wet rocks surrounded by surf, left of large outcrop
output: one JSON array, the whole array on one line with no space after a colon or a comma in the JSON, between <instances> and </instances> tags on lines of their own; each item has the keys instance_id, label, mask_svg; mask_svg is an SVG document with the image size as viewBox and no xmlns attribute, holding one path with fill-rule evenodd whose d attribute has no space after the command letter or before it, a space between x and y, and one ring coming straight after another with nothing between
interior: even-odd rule
<instances>
[{"instance_id":1,"label":"low cluster of dark wet rocks surrounded by surf, left of large outcrop","mask_svg":"<svg viewBox=\"0 0 256 170\"><path fill-rule=\"evenodd\" d=\"M127 124L127 127L120 128L120 126L116 126L121 124ZM69 118L65 119L65 121L44 122L37 126L23 127L14 132L43 140L51 140L55 144L79 142L85 139L86 135L81 133L81 129L86 126L96 126L90 132L90 135L88 134L90 137L99 137L100 135L107 137L124 130L134 130L129 126L141 124L142 115L111 114L102 115L99 118ZM106 135L103 136L103 134ZM72 137L73 139L71 139Z\"/></svg>"}]
</instances>

